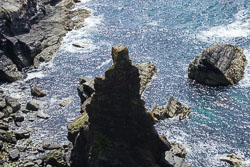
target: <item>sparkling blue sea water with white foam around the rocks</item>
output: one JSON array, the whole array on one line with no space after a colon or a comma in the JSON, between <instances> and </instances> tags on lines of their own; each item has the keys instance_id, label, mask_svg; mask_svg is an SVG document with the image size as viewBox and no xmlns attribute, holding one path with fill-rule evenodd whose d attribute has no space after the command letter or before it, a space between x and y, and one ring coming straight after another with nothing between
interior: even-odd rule
<instances>
[{"instance_id":1,"label":"sparkling blue sea water with white foam around the rocks","mask_svg":"<svg viewBox=\"0 0 250 167\"><path fill-rule=\"evenodd\" d=\"M49 94L43 108L52 119L35 121L38 132L33 135L65 140L65 124L79 115L78 77L102 76L112 63L111 47L122 43L134 63L151 61L158 69L143 94L148 108L164 105L170 96L192 108L186 120L168 119L156 125L159 134L188 149L187 162L197 167L226 166L219 157L236 153L250 166L250 66L234 86L212 88L187 78L189 62L217 43L240 46L250 64L249 0L85 0L77 8L92 12L85 27L65 37L53 62L30 72L24 83L16 83L36 85ZM77 41L85 48L73 47ZM28 94L6 87L13 96ZM73 102L59 107L68 97Z\"/></svg>"}]
</instances>

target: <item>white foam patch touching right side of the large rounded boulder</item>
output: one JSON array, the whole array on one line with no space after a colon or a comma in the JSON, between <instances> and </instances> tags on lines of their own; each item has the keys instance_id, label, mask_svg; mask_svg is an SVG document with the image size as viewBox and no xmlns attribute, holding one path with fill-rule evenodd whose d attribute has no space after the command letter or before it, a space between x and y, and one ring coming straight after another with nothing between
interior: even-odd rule
<instances>
[{"instance_id":1,"label":"white foam patch touching right side of the large rounded boulder","mask_svg":"<svg viewBox=\"0 0 250 167\"><path fill-rule=\"evenodd\" d=\"M245 68L244 77L239 82L239 86L244 87L244 88L249 88L250 87L250 50L244 50L244 54L247 58L248 64Z\"/></svg>"}]
</instances>

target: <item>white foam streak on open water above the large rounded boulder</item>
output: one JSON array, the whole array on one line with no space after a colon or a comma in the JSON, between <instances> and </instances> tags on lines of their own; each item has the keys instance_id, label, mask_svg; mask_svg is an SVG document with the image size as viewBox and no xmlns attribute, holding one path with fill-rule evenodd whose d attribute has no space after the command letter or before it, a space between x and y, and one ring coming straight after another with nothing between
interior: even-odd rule
<instances>
[{"instance_id":1,"label":"white foam streak on open water above the large rounded boulder","mask_svg":"<svg viewBox=\"0 0 250 167\"><path fill-rule=\"evenodd\" d=\"M228 25L220 25L201 31L197 37L208 43L230 40L237 37L247 38L250 36L249 12L239 11L234 15L234 21Z\"/></svg>"}]
</instances>

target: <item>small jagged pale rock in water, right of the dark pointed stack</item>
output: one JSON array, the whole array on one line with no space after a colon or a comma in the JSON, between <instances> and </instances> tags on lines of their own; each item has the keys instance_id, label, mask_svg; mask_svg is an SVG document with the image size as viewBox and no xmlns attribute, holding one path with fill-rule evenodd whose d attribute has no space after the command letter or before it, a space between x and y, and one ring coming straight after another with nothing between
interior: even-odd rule
<instances>
[{"instance_id":1,"label":"small jagged pale rock in water, right of the dark pointed stack","mask_svg":"<svg viewBox=\"0 0 250 167\"><path fill-rule=\"evenodd\" d=\"M191 113L191 109L188 106L183 106L174 97L170 97L165 106L155 104L151 113L156 121L173 117L178 117L180 120L183 120Z\"/></svg>"}]
</instances>

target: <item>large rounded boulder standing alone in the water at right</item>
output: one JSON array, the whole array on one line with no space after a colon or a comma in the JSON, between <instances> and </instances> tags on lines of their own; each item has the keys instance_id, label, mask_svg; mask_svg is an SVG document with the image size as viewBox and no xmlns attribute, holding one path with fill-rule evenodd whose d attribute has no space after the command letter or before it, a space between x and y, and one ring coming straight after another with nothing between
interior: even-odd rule
<instances>
[{"instance_id":1,"label":"large rounded boulder standing alone in the water at right","mask_svg":"<svg viewBox=\"0 0 250 167\"><path fill-rule=\"evenodd\" d=\"M204 85L233 85L243 78L246 65L246 56L240 47L215 45L190 62L188 77Z\"/></svg>"}]
</instances>

